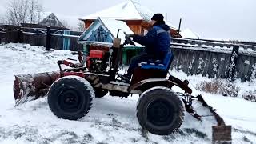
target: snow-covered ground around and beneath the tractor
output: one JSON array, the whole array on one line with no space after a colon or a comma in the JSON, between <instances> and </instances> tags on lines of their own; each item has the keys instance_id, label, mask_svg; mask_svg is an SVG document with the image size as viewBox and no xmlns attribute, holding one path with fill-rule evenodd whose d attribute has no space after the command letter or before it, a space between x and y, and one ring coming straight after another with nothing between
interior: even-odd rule
<instances>
[{"instance_id":1,"label":"snow-covered ground around and beneath the tractor","mask_svg":"<svg viewBox=\"0 0 256 144\"><path fill-rule=\"evenodd\" d=\"M59 119L51 113L46 98L14 107L14 74L33 74L58 70L57 60L76 58L70 51L46 52L42 46L26 44L0 45L0 143L211 143L212 116L198 122L190 114L175 134L158 136L142 134L135 116L138 96L95 98L94 106L79 121ZM202 94L210 106L218 110L226 124L233 126L233 143L256 143L256 103L242 99L246 90L255 90L256 82L236 82L241 88L238 98L222 97L195 90L202 76L187 76L172 71L174 76L188 79L193 94ZM175 91L179 91L174 87ZM199 114L209 114L198 102Z\"/></svg>"}]
</instances>

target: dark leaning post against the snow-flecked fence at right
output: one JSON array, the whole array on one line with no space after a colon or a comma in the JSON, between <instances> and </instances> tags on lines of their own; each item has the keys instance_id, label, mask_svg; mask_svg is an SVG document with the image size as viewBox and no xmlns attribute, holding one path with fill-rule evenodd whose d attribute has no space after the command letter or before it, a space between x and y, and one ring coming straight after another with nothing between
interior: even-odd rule
<instances>
[{"instance_id":1,"label":"dark leaning post against the snow-flecked fence at right","mask_svg":"<svg viewBox=\"0 0 256 144\"><path fill-rule=\"evenodd\" d=\"M234 81L235 66L237 65L237 62L238 62L238 52L239 52L239 46L234 45L232 54L230 57L230 65L229 65L228 71L227 71L227 78L230 81Z\"/></svg>"}]
</instances>

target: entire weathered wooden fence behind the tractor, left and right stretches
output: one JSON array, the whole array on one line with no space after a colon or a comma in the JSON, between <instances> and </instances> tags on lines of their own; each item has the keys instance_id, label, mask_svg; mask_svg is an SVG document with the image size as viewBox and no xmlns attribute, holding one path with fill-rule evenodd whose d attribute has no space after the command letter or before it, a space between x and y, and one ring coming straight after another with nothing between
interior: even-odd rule
<instances>
[{"instance_id":1,"label":"entire weathered wooden fence behind the tractor, left and right stretches","mask_svg":"<svg viewBox=\"0 0 256 144\"><path fill-rule=\"evenodd\" d=\"M14 27L15 28L15 27ZM57 50L83 50L77 40L81 32L51 29L50 48ZM50 37L49 37L50 36ZM46 46L45 28L20 27L6 30L0 27L0 42L23 42L32 46ZM256 44L253 42L218 42L172 38L171 50L174 61L170 69L186 74L202 74L208 78L240 78L250 81L256 78ZM134 48L132 54L137 54ZM126 55L127 57L127 55ZM125 58L129 64L130 57Z\"/></svg>"}]
</instances>

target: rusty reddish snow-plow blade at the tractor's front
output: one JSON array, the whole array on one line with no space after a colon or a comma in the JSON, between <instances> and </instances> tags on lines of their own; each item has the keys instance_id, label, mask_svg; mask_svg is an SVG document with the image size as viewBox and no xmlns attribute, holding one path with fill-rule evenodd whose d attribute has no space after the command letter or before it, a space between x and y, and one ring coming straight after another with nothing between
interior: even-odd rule
<instances>
[{"instance_id":1,"label":"rusty reddish snow-plow blade at the tractor's front","mask_svg":"<svg viewBox=\"0 0 256 144\"><path fill-rule=\"evenodd\" d=\"M15 75L15 106L44 97L58 77L59 72Z\"/></svg>"}]
</instances>

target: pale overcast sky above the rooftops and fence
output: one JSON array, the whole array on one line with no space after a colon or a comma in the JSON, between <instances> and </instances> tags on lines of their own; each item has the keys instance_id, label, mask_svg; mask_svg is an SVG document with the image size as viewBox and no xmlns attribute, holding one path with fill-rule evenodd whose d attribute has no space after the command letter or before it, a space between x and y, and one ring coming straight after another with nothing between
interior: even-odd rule
<instances>
[{"instance_id":1,"label":"pale overcast sky above the rooftops and fence","mask_svg":"<svg viewBox=\"0 0 256 144\"><path fill-rule=\"evenodd\" d=\"M6 2L0 0L0 13ZM57 14L86 16L125 0L38 0L45 11ZM256 41L255 0L137 0L178 27L190 28L203 38Z\"/></svg>"}]
</instances>

